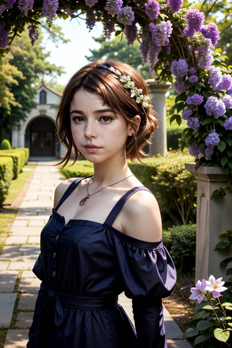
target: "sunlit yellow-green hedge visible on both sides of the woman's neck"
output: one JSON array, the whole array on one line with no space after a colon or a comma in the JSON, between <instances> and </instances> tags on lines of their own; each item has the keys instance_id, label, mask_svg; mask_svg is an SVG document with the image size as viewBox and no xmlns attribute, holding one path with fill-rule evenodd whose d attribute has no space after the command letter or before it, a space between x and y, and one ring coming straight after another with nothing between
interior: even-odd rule
<instances>
[{"instance_id":1,"label":"sunlit yellow-green hedge visible on both sides of the woman's neck","mask_svg":"<svg viewBox=\"0 0 232 348\"><path fill-rule=\"evenodd\" d=\"M137 179L155 195L163 222L171 218L177 225L195 223L197 184L185 169L186 162L194 161L194 157L180 150L169 152L168 156L143 159L146 164L127 160ZM93 163L77 161L61 169L61 173L67 179L86 177L93 174Z\"/></svg>"}]
</instances>

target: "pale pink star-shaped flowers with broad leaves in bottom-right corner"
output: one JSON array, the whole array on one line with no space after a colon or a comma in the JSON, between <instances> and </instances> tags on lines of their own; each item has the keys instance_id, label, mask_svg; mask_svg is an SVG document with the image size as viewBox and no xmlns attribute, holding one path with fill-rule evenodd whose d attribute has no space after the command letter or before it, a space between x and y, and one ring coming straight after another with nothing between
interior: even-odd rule
<instances>
[{"instance_id":1,"label":"pale pink star-shaped flowers with broad leaves in bottom-right corner","mask_svg":"<svg viewBox=\"0 0 232 348\"><path fill-rule=\"evenodd\" d=\"M196 287L190 289L189 299L197 300L197 313L189 323L183 339L195 337L194 346L197 347L231 347L232 317L227 311L232 311L231 302L222 302L221 292L227 290L223 286L222 278L215 279L212 275L209 280L198 280ZM216 302L213 304L213 302ZM200 333L199 333L200 332ZM218 342L219 341L219 342ZM224 344L225 343L225 344Z\"/></svg>"}]
</instances>

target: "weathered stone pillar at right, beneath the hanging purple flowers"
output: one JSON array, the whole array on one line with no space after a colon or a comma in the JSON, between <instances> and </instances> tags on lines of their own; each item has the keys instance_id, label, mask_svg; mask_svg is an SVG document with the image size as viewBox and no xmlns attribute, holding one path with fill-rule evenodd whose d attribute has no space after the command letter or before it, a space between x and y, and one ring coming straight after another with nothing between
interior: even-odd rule
<instances>
[{"instance_id":1,"label":"weathered stone pillar at right, beneath the hanging purple flowers","mask_svg":"<svg viewBox=\"0 0 232 348\"><path fill-rule=\"evenodd\" d=\"M189 170L197 180L197 231L196 231L196 278L209 279L213 275L216 279L228 281L231 276L226 276L226 267L220 262L232 256L231 249L214 250L216 244L227 241L227 237L218 237L219 233L232 230L232 193L226 190L226 196L217 201L210 199L213 191L227 186L232 176L225 174L220 167L200 166L197 172L195 163L186 163ZM232 262L227 266L232 267Z\"/></svg>"}]
</instances>

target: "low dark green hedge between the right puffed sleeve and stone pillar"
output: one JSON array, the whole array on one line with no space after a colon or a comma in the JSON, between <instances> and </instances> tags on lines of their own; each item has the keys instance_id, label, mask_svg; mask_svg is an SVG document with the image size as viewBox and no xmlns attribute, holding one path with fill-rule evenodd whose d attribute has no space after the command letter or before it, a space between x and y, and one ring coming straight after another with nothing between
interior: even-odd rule
<instances>
[{"instance_id":1,"label":"low dark green hedge between the right puffed sleeve and stone pillar","mask_svg":"<svg viewBox=\"0 0 232 348\"><path fill-rule=\"evenodd\" d=\"M162 231L162 241L175 266L187 273L196 264L196 224L173 226Z\"/></svg>"}]
</instances>

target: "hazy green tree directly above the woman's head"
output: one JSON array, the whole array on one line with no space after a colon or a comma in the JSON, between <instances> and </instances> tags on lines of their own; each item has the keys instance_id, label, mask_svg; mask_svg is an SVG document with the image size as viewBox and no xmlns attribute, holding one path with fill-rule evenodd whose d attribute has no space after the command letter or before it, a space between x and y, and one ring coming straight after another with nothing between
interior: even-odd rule
<instances>
[{"instance_id":1,"label":"hazy green tree directly above the woman's head","mask_svg":"<svg viewBox=\"0 0 232 348\"><path fill-rule=\"evenodd\" d=\"M142 56L139 49L139 42L136 40L133 45L128 45L125 36L116 36L115 39L107 40L104 35L99 38L93 37L93 40L99 44L101 47L99 49L90 49L92 55L85 56L89 61L94 58L104 57L104 59L116 58L121 62L130 64L132 67L136 68L141 75L148 79L151 77L149 72L149 64L142 62Z\"/></svg>"}]
</instances>

